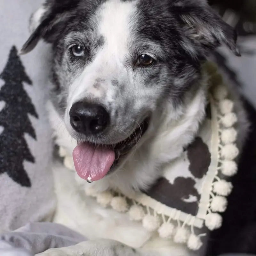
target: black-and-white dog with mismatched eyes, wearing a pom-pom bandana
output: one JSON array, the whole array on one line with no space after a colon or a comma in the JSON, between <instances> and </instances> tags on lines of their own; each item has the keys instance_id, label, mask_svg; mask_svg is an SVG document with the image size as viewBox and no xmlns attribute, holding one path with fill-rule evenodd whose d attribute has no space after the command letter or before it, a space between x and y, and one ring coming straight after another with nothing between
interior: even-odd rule
<instances>
[{"instance_id":1,"label":"black-and-white dog with mismatched eyes, wearing a pom-pom bandana","mask_svg":"<svg viewBox=\"0 0 256 256\"><path fill-rule=\"evenodd\" d=\"M202 64L220 45L239 56L236 31L204 0L47 0L30 30L21 53L40 39L52 45L50 119L56 130L64 127L57 137L73 151L80 182L99 192L127 194L154 184L205 117ZM242 149L248 121L236 88L233 93ZM75 194L70 177L63 171L56 186ZM57 215L93 239L84 243L85 255L199 255L150 237L89 198L77 209L64 195L66 208Z\"/></svg>"}]
</instances>

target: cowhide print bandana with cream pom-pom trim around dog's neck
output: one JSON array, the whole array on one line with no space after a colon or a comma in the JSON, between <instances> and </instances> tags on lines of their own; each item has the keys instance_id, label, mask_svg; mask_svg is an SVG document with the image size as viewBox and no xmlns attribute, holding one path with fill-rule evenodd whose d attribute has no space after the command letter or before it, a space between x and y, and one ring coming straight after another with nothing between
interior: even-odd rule
<instances>
[{"instance_id":1,"label":"cowhide print bandana with cream pom-pom trim around dog's neck","mask_svg":"<svg viewBox=\"0 0 256 256\"><path fill-rule=\"evenodd\" d=\"M232 190L228 178L237 171L239 153L234 128L237 116L228 89L215 64L207 62L204 70L210 88L205 120L182 155L164 167L163 177L147 192L135 195L86 190L102 206L127 212L147 230L195 251L202 246L201 229L214 230L222 224L220 213L226 210L226 196ZM74 169L72 157L66 156L63 148L60 155L64 164Z\"/></svg>"}]
</instances>

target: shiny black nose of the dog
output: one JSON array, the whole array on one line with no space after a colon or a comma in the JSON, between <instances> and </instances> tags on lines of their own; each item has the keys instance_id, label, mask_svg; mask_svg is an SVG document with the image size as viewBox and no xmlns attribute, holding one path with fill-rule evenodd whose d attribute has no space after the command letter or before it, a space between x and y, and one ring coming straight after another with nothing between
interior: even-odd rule
<instances>
[{"instance_id":1,"label":"shiny black nose of the dog","mask_svg":"<svg viewBox=\"0 0 256 256\"><path fill-rule=\"evenodd\" d=\"M76 132L88 134L100 133L109 123L107 110L99 104L76 102L69 111L70 124Z\"/></svg>"}]
</instances>

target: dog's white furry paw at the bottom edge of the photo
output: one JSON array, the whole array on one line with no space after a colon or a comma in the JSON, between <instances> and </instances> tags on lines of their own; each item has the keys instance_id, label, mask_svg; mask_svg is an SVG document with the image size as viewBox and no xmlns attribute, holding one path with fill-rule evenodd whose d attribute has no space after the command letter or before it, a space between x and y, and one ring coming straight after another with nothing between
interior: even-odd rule
<instances>
[{"instance_id":1,"label":"dog's white furry paw at the bottom edge of the photo","mask_svg":"<svg viewBox=\"0 0 256 256\"><path fill-rule=\"evenodd\" d=\"M119 242L99 239L63 248L49 249L36 254L36 256L140 256L140 253Z\"/></svg>"}]
</instances>

